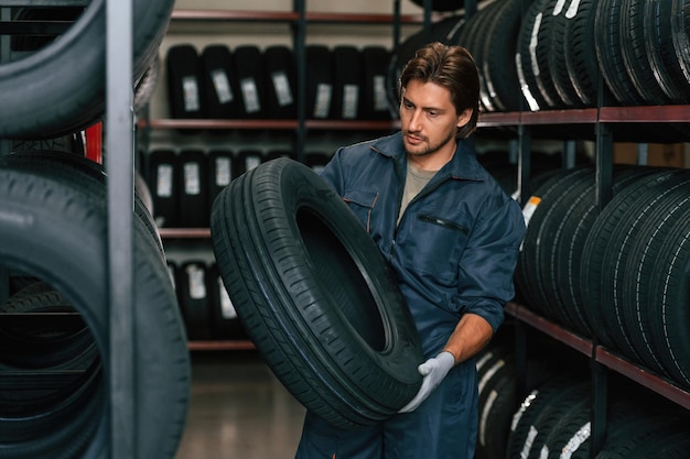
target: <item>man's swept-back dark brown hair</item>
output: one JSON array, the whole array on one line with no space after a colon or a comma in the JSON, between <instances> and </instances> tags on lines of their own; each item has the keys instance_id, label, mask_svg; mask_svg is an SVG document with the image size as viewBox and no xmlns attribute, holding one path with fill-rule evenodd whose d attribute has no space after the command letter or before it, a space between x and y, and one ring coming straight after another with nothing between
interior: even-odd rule
<instances>
[{"instance_id":1,"label":"man's swept-back dark brown hair","mask_svg":"<svg viewBox=\"0 0 690 459\"><path fill-rule=\"evenodd\" d=\"M472 118L455 136L465 139L474 132L479 117L479 74L474 58L462 46L429 43L414 53L400 75L399 96L413 79L434 83L451 92L451 101L460 114L472 109Z\"/></svg>"}]
</instances>

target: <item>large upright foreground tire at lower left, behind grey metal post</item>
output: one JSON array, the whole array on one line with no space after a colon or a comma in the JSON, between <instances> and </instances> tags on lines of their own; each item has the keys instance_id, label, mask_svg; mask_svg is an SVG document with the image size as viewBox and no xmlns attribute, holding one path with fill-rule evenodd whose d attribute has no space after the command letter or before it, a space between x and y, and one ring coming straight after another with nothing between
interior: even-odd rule
<instances>
[{"instance_id":1,"label":"large upright foreground tire at lower left, behind grey metal post","mask_svg":"<svg viewBox=\"0 0 690 459\"><path fill-rule=\"evenodd\" d=\"M22 431L24 440L0 442L0 455L105 458L110 437L106 407L111 363L108 270L104 262L108 258L106 200L79 185L87 175L76 168L33 168L14 167L11 160L0 168L0 265L60 292L80 314L99 359L84 369L83 379L61 402L19 417L8 416L7 405L2 405L0 431ZM131 428L139 434L137 457L172 459L188 402L186 339L159 248L141 219L133 218L132 223L132 331L137 350L132 389L137 404ZM19 392L32 386L31 374L25 378L30 381L22 382ZM11 397L17 392L3 389L0 396ZM45 426L41 418L55 415L54 408L73 415Z\"/></svg>"}]
</instances>

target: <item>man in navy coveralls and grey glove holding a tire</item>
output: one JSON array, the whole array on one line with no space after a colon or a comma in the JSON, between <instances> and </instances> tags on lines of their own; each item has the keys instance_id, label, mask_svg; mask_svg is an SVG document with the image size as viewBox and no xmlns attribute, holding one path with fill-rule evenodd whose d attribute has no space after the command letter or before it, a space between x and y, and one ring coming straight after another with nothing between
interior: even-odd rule
<instances>
[{"instance_id":1,"label":"man in navy coveralls and grey glove holding a tire","mask_svg":"<svg viewBox=\"0 0 690 459\"><path fill-rule=\"evenodd\" d=\"M400 78L401 132L339 149L322 172L393 266L425 359L417 396L343 431L308 412L297 459L472 459L474 356L503 323L525 236L520 207L464 142L478 118L470 53L433 43Z\"/></svg>"}]
</instances>

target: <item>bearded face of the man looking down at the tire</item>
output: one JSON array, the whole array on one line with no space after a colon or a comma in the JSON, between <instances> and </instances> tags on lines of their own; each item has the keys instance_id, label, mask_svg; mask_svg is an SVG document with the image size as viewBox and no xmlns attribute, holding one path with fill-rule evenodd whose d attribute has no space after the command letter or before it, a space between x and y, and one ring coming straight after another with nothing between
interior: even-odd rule
<instances>
[{"instance_id":1,"label":"bearded face of the man looking down at the tire","mask_svg":"<svg viewBox=\"0 0 690 459\"><path fill-rule=\"evenodd\" d=\"M400 127L408 154L412 156L455 152L455 133L472 110L455 112L451 91L435 83L410 80L400 101ZM450 156L449 156L450 157Z\"/></svg>"}]
</instances>

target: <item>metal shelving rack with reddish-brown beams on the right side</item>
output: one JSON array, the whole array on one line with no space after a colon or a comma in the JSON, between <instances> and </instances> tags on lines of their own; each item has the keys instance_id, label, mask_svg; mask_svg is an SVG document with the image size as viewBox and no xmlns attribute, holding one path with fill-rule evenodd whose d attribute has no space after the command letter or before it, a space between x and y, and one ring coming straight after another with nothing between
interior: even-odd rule
<instances>
[{"instance_id":1,"label":"metal shelving rack with reddish-brown beams on the right side","mask_svg":"<svg viewBox=\"0 0 690 459\"><path fill-rule=\"evenodd\" d=\"M601 79L601 77L600 77ZM600 94L602 86L600 81ZM535 125L556 124L590 124L595 129L595 196L596 205L604 208L612 198L613 182L613 134L611 123L625 122L686 122L690 123L690 106L639 106L613 107L604 106L600 96L597 108L571 110L545 110L538 112L496 112L483 113L478 127L513 125L518 128L518 187L522 205L531 196L529 176L531 171L530 128ZM592 387L592 448L593 459L603 448L606 440L608 408L608 370L613 370L632 381L667 397L671 402L690 409L690 392L679 387L646 369L630 362L597 342L580 337L563 327L553 324L524 305L510 303L506 313L517 320L516 327L516 363L518 372L518 400L522 400L526 381L526 325L558 340L590 360Z\"/></svg>"}]
</instances>

